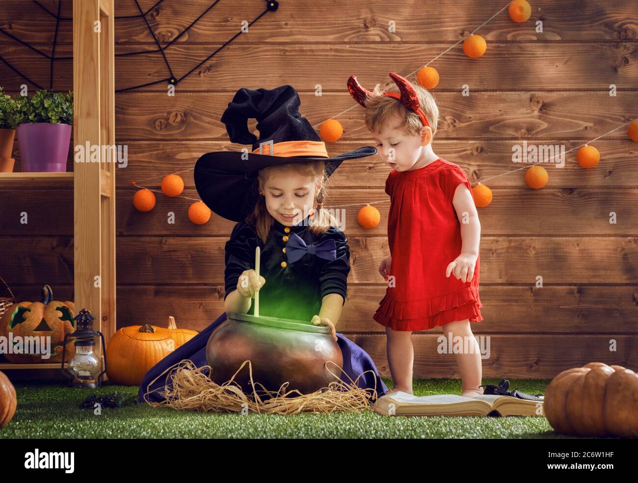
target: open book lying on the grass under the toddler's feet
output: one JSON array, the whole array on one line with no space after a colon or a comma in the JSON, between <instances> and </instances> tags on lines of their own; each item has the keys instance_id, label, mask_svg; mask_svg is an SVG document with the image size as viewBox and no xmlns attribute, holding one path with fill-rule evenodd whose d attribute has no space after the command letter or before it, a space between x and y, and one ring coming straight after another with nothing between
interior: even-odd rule
<instances>
[{"instance_id":1,"label":"open book lying on the grass under the toddler's feet","mask_svg":"<svg viewBox=\"0 0 638 483\"><path fill-rule=\"evenodd\" d=\"M543 401L527 401L512 396L491 396L486 394L480 394L474 398L465 398L456 394L413 396L412 394L397 391L378 398L373 408L376 412L386 416L545 415Z\"/></svg>"}]
</instances>

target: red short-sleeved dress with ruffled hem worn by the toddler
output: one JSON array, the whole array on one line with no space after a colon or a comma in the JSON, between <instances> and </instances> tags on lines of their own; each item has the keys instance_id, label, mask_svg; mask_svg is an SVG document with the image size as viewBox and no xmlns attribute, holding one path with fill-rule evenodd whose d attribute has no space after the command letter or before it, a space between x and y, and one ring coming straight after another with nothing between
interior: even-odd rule
<instances>
[{"instance_id":1,"label":"red short-sleeved dress with ruffled hem worn by the toddler","mask_svg":"<svg viewBox=\"0 0 638 483\"><path fill-rule=\"evenodd\" d=\"M396 331L420 331L454 321L483 320L479 308L479 257L470 282L445 269L461 254L461 223L454 191L470 180L442 158L412 171L390 171L388 241L394 287L386 289L373 318ZM389 280L392 282L392 278ZM390 285L390 284L389 284Z\"/></svg>"}]
</instances>

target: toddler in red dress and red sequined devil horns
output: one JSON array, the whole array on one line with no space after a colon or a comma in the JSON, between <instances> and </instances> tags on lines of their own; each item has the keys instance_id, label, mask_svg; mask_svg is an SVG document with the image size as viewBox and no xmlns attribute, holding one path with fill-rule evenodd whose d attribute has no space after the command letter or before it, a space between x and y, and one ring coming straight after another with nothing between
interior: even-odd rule
<instances>
[{"instance_id":1,"label":"toddler in red dress and red sequined devil horns","mask_svg":"<svg viewBox=\"0 0 638 483\"><path fill-rule=\"evenodd\" d=\"M390 255L379 267L389 283L373 315L386 328L394 382L389 393L412 394L412 331L441 326L454 343L461 395L476 396L483 393L481 357L470 322L483 317L480 223L470 180L432 150L438 122L434 97L396 73L390 72L390 78L395 85L385 90L376 85L374 92L361 87L355 76L348 79L350 94L366 108L366 126L380 155L392 168L385 182ZM463 353L466 347L470 350Z\"/></svg>"}]
</instances>

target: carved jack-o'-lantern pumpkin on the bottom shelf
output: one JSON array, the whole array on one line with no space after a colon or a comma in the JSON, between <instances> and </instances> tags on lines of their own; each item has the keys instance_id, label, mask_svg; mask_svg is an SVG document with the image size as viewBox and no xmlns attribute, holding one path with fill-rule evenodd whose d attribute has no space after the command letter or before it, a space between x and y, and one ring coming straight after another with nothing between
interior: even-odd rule
<instances>
[{"instance_id":1,"label":"carved jack-o'-lantern pumpkin on the bottom shelf","mask_svg":"<svg viewBox=\"0 0 638 483\"><path fill-rule=\"evenodd\" d=\"M75 308L71 301L57 301L53 299L53 291L49 285L42 287L42 298L39 302L20 302L11 305L0 319L0 335L7 339L10 334L15 338L22 337L25 342L24 350L28 350L26 345L28 340L25 337L38 338L50 337L50 356L43 359L41 354L4 354L4 357L12 363L34 364L34 363L61 363L62 344L64 336L75 332L75 321L73 313ZM65 359L75 354L74 339L67 339ZM40 348L40 352L42 352Z\"/></svg>"}]
</instances>

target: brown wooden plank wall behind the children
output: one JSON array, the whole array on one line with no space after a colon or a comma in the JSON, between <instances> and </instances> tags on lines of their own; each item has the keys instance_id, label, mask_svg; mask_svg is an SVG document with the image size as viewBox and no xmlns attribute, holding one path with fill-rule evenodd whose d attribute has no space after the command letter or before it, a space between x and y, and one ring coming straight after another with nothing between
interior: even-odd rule
<instances>
[{"instance_id":1,"label":"brown wooden plank wall behind the children","mask_svg":"<svg viewBox=\"0 0 638 483\"><path fill-rule=\"evenodd\" d=\"M140 0L146 11L154 0ZM192 168L212 150L236 149L219 121L240 87L290 83L300 92L301 112L316 125L353 105L345 89L356 74L362 85L385 82L389 71L406 75L434 59L507 3L478 0L406 3L281 1L228 47L204 62L168 97L155 85L116 94L116 139L128 145L129 164L117 171L118 326L165 324L204 329L223 312L223 252L232 222L213 215L204 226L189 222L189 201L158 196L149 213L133 208L131 181ZM51 11L57 2L44 1ZM164 0L147 15L165 45L210 2ZM565 150L638 118L638 11L635 0L531 1L533 13L515 24L507 10L480 29L487 53L466 57L461 45L432 65L441 73L434 94L440 108L434 151L456 162L472 182L519 168L513 144L565 145ZM165 54L177 76L221 47L264 8L261 0L221 0ZM70 1L63 15L70 17ZM116 0L117 17L138 15L131 0ZM390 20L396 32L390 33ZM544 32L534 25L542 20ZM55 20L29 2L3 2L1 27L50 52ZM56 55L70 55L71 22L62 22ZM169 74L140 18L115 20L116 89ZM48 87L48 61L6 35L0 52L34 82ZM57 61L56 90L71 89L71 61ZM23 82L0 62L0 85L17 92ZM315 96L322 85L323 96ZM461 86L470 96L461 96ZM609 85L618 89L609 96ZM29 86L31 89L31 85ZM371 143L362 108L337 118L345 128L329 145L337 154ZM249 125L254 129L255 122ZM491 180L494 201L479 210L482 224L481 287L485 321L473 324L489 336L485 377L553 377L590 361L638 369L638 170L637 145L619 129L595 142L602 161L584 170L567 154L564 168L549 166L549 184L533 191L524 171ZM17 152L17 144L15 155ZM72 169L71 158L69 162ZM19 160L16 170L20 169ZM385 199L388 170L378 159L342 165L332 177L330 205ZM185 196L197 198L184 173ZM161 178L144 185L157 189ZM73 191L68 185L2 185L0 274L18 296L33 299L41 284L59 298L72 297ZM348 300L338 329L359 343L389 375L385 333L371 315L385 286L377 266L388 252L389 203L377 205L382 223L364 231L357 209L346 211L352 251ZM20 224L19 213L29 213ZM166 213L175 212L175 224ZM609 213L616 212L616 224ZM535 286L536 277L544 286ZM438 354L440 329L415 333L415 377L457 377L452 354ZM610 341L616 342L615 350Z\"/></svg>"}]
</instances>

